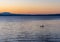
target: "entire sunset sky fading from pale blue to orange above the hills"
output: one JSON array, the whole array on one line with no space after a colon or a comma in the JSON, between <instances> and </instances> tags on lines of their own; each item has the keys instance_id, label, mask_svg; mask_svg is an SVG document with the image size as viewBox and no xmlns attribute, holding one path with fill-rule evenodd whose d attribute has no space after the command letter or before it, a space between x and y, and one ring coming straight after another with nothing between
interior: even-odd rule
<instances>
[{"instance_id":1,"label":"entire sunset sky fading from pale blue to orange above the hills","mask_svg":"<svg viewBox=\"0 0 60 42\"><path fill-rule=\"evenodd\" d=\"M0 0L0 12L55 14L60 13L60 0Z\"/></svg>"}]
</instances>

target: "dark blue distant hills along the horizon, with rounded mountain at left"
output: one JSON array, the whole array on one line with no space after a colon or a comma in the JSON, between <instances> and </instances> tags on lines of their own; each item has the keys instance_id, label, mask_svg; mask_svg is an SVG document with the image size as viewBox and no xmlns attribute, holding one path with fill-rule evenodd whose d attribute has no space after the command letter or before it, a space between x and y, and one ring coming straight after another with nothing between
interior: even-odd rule
<instances>
[{"instance_id":1,"label":"dark blue distant hills along the horizon, with rounded mountain at left","mask_svg":"<svg viewBox=\"0 0 60 42\"><path fill-rule=\"evenodd\" d=\"M60 14L13 14L9 12L0 13L0 16L60 16Z\"/></svg>"}]
</instances>

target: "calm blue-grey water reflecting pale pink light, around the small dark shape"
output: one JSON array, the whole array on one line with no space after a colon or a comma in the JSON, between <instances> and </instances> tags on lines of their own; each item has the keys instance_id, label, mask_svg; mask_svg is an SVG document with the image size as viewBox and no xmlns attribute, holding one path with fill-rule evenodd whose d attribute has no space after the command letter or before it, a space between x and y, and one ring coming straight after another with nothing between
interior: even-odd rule
<instances>
[{"instance_id":1,"label":"calm blue-grey water reflecting pale pink light, around the small dark shape","mask_svg":"<svg viewBox=\"0 0 60 42\"><path fill-rule=\"evenodd\" d=\"M0 42L60 42L60 17L0 16Z\"/></svg>"}]
</instances>

